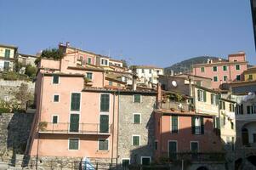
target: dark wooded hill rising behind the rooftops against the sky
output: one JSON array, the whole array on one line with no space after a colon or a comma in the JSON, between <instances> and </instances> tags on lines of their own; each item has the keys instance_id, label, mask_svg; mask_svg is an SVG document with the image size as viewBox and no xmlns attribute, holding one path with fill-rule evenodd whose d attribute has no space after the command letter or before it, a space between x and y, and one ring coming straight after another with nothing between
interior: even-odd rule
<instances>
[{"instance_id":1,"label":"dark wooded hill rising behind the rooftops against the sky","mask_svg":"<svg viewBox=\"0 0 256 170\"><path fill-rule=\"evenodd\" d=\"M166 74L170 74L171 70L173 70L174 73L191 72L192 65L207 63L208 59L219 59L219 57L199 56L191 59L186 59L184 61L181 61L179 63L176 63L174 65L164 68L164 72Z\"/></svg>"}]
</instances>

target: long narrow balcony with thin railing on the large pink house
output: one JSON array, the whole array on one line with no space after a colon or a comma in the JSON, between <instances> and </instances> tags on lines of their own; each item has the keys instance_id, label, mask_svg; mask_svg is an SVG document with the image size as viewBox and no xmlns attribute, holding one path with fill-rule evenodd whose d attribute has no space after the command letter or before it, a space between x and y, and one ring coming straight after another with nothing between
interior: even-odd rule
<instances>
[{"instance_id":1,"label":"long narrow balcony with thin railing on the large pink house","mask_svg":"<svg viewBox=\"0 0 256 170\"><path fill-rule=\"evenodd\" d=\"M112 125L99 123L40 122L39 133L111 135Z\"/></svg>"}]
</instances>

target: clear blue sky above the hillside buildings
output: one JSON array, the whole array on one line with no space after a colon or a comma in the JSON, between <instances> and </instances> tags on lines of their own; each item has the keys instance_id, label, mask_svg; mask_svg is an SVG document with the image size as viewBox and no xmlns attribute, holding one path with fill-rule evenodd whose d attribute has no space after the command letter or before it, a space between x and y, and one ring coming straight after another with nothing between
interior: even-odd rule
<instances>
[{"instance_id":1,"label":"clear blue sky above the hillside buildings","mask_svg":"<svg viewBox=\"0 0 256 170\"><path fill-rule=\"evenodd\" d=\"M249 0L0 0L0 7L0 43L20 53L68 41L130 65L241 50L256 64Z\"/></svg>"}]
</instances>

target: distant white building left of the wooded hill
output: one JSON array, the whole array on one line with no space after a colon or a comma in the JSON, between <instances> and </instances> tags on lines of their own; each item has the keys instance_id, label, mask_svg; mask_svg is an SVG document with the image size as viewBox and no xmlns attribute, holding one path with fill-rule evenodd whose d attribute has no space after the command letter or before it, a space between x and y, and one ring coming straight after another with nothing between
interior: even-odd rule
<instances>
[{"instance_id":1,"label":"distant white building left of the wooded hill","mask_svg":"<svg viewBox=\"0 0 256 170\"><path fill-rule=\"evenodd\" d=\"M163 69L150 65L132 65L131 69L139 77L138 83L158 83L159 75L163 75Z\"/></svg>"}]
</instances>

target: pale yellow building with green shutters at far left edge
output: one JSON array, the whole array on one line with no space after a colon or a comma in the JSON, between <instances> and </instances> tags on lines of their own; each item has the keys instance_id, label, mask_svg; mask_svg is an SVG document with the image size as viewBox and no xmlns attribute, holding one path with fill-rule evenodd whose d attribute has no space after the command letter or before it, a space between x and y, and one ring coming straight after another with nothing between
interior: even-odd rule
<instances>
[{"instance_id":1,"label":"pale yellow building with green shutters at far left edge","mask_svg":"<svg viewBox=\"0 0 256 170\"><path fill-rule=\"evenodd\" d=\"M0 71L14 71L18 47L0 44Z\"/></svg>"}]
</instances>

